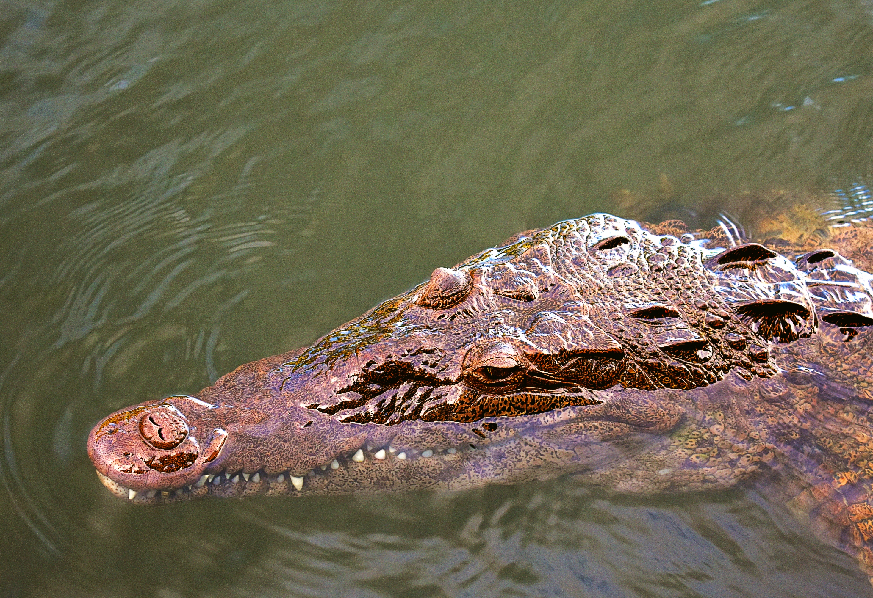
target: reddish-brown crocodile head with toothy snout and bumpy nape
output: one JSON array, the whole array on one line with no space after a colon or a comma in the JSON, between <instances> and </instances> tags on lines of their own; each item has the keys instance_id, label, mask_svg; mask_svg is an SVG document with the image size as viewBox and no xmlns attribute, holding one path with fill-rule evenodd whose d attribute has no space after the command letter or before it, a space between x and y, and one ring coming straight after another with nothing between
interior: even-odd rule
<instances>
[{"instance_id":1,"label":"reddish-brown crocodile head with toothy snout and bumpy nape","mask_svg":"<svg viewBox=\"0 0 873 598\"><path fill-rule=\"evenodd\" d=\"M562 473L726 485L689 469L677 434L706 434L713 389L772 378L780 347L815 333L806 278L758 244L557 223L437 268L312 347L113 413L88 454L137 503Z\"/></svg>"}]
</instances>

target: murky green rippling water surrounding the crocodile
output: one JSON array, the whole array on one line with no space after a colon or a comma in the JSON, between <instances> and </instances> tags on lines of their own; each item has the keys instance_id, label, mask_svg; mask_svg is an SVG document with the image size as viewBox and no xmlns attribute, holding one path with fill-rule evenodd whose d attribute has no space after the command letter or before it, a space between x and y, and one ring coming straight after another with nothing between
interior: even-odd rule
<instances>
[{"instance_id":1,"label":"murky green rippling water surrounding the crocodile","mask_svg":"<svg viewBox=\"0 0 873 598\"><path fill-rule=\"evenodd\" d=\"M0 596L870 595L752 491L137 508L85 438L615 189L711 225L706 197L870 174L871 26L870 0L0 2Z\"/></svg>"}]
</instances>

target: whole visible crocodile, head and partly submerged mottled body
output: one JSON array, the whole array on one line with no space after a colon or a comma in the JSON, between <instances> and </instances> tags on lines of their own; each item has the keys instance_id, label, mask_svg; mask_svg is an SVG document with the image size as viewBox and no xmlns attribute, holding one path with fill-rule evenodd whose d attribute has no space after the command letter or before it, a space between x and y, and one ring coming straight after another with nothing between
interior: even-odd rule
<instances>
[{"instance_id":1,"label":"whole visible crocodile, head and partly submerged mottled body","mask_svg":"<svg viewBox=\"0 0 873 598\"><path fill-rule=\"evenodd\" d=\"M873 277L779 249L605 214L527 231L312 347L117 411L88 453L137 504L752 479L871 574Z\"/></svg>"}]
</instances>

